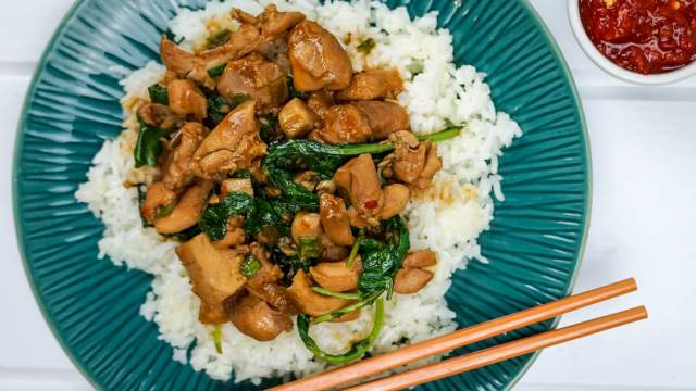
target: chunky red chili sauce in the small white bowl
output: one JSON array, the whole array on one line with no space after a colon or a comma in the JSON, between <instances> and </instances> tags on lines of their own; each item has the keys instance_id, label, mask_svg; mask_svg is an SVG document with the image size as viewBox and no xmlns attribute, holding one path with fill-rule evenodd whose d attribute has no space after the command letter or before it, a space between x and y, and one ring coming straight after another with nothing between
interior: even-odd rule
<instances>
[{"instance_id":1,"label":"chunky red chili sauce in the small white bowl","mask_svg":"<svg viewBox=\"0 0 696 391\"><path fill-rule=\"evenodd\" d=\"M617 65L642 74L696 61L696 0L579 0L589 39Z\"/></svg>"}]
</instances>

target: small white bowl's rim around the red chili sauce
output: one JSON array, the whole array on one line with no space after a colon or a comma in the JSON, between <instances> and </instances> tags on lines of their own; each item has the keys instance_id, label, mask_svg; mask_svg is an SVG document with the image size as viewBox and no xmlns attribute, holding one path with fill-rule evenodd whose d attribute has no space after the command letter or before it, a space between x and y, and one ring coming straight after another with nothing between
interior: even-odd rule
<instances>
[{"instance_id":1,"label":"small white bowl's rim around the red chili sauce","mask_svg":"<svg viewBox=\"0 0 696 391\"><path fill-rule=\"evenodd\" d=\"M573 34L577 39L577 42L583 48L587 56L602 68L608 74L618 77L622 80L645 85L657 86L675 83L685 79L689 76L696 75L696 62L693 62L676 71L670 71L662 74L643 75L636 72L627 71L607 59L589 40L587 31L583 26L580 18L580 0L568 0L568 16L570 18L570 25L573 29Z\"/></svg>"}]
</instances>

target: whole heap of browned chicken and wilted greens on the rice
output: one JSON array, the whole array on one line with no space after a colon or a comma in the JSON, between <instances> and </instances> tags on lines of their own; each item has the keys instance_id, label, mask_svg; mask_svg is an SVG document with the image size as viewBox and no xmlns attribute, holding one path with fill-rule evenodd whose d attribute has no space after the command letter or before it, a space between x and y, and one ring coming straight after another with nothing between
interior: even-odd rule
<instances>
[{"instance_id":1,"label":"whole heap of browned chicken and wilted greens on the rice","mask_svg":"<svg viewBox=\"0 0 696 391\"><path fill-rule=\"evenodd\" d=\"M399 72L353 73L301 13L231 17L239 28L199 52L162 37L166 76L137 110L136 165L160 173L144 224L181 241L201 323L269 341L297 316L308 349L341 363L313 343L310 320L381 314L383 298L433 278L435 253L409 252L400 214L442 166L435 142L459 128L417 137L395 103Z\"/></svg>"}]
</instances>

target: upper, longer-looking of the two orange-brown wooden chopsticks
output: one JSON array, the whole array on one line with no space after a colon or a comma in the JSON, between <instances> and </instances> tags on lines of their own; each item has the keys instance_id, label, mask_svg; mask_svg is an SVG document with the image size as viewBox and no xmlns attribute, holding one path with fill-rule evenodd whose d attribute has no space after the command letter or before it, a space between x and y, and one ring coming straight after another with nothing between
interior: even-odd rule
<instances>
[{"instance_id":1,"label":"upper, longer-looking of the two orange-brown wooden chopsticks","mask_svg":"<svg viewBox=\"0 0 696 391\"><path fill-rule=\"evenodd\" d=\"M366 378L394 369L408 363L444 354L477 341L512 331L524 326L548 320L559 315L586 307L637 289L635 279L629 278L583 293L559 299L529 310L520 311L478 325L463 328L455 332L415 343L399 350L366 358L355 364L336 368L314 377L299 379L273 388L275 391L287 390L327 390L358 379Z\"/></svg>"}]
</instances>

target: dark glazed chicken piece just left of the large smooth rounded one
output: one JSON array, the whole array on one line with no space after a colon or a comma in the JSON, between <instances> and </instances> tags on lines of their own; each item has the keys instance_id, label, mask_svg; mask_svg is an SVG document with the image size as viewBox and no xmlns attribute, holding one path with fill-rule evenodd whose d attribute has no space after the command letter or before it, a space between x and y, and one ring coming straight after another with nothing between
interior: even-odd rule
<instances>
[{"instance_id":1,"label":"dark glazed chicken piece just left of the large smooth rounded one","mask_svg":"<svg viewBox=\"0 0 696 391\"><path fill-rule=\"evenodd\" d=\"M217 81L220 94L232 100L244 93L257 101L257 109L277 109L287 100L286 73L283 68L261 55L251 53L231 61Z\"/></svg>"}]
</instances>

